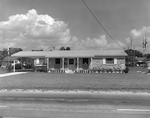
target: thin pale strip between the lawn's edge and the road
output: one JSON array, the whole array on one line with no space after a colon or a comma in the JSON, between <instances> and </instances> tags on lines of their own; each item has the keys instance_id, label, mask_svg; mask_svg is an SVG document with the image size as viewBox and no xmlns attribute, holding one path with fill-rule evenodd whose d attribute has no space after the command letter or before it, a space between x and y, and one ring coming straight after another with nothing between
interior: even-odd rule
<instances>
[{"instance_id":1,"label":"thin pale strip between the lawn's edge and the road","mask_svg":"<svg viewBox=\"0 0 150 118\"><path fill-rule=\"evenodd\" d=\"M125 90L60 90L60 89L55 89L55 90L43 90L43 89L1 89L0 93L2 92L14 92L14 93L56 93L56 94L63 94L63 93L70 93L70 94L149 94L150 91L140 91L140 90L135 90L135 91L125 91Z\"/></svg>"}]
</instances>

